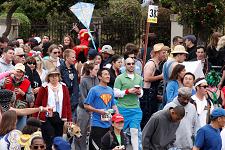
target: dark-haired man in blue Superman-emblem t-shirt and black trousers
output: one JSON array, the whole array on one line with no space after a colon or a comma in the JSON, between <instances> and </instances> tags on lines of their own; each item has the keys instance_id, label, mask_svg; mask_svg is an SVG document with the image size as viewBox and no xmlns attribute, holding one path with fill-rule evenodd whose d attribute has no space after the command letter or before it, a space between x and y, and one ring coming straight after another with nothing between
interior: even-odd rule
<instances>
[{"instance_id":1,"label":"dark-haired man in blue Superman-emblem t-shirt and black trousers","mask_svg":"<svg viewBox=\"0 0 225 150\"><path fill-rule=\"evenodd\" d=\"M114 102L113 89L107 84L110 81L108 69L102 68L98 71L99 85L90 89L84 108L92 112L91 134L89 140L89 149L98 149L101 147L101 138L109 131L111 126L110 115L107 110L114 109L118 113Z\"/></svg>"}]
</instances>

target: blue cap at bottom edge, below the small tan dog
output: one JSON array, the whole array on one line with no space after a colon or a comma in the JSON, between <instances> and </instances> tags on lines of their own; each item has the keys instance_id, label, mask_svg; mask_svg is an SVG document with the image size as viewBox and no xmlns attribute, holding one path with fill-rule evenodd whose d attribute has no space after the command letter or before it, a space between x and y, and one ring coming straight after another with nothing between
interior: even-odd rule
<instances>
[{"instance_id":1,"label":"blue cap at bottom edge, below the small tan dog","mask_svg":"<svg viewBox=\"0 0 225 150\"><path fill-rule=\"evenodd\" d=\"M53 145L55 146L56 150L71 150L70 144L59 136L54 138Z\"/></svg>"}]
</instances>

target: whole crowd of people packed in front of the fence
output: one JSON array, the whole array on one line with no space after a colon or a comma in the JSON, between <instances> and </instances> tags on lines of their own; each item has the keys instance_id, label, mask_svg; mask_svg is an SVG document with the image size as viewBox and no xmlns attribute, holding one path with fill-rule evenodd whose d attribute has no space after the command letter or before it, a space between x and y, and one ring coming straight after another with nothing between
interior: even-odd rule
<instances>
[{"instance_id":1,"label":"whole crowd of people packed in front of the fence","mask_svg":"<svg viewBox=\"0 0 225 150\"><path fill-rule=\"evenodd\" d=\"M143 64L133 43L117 55L76 32L79 45L0 37L0 149L225 149L225 36L155 43ZM203 76L185 61L200 61ZM68 134L73 124L81 137Z\"/></svg>"}]
</instances>

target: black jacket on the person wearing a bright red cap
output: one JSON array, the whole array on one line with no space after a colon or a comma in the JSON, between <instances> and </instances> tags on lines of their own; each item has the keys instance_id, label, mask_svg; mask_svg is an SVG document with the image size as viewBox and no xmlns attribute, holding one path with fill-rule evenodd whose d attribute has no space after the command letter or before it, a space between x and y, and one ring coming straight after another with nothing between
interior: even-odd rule
<instances>
[{"instance_id":1,"label":"black jacket on the person wearing a bright red cap","mask_svg":"<svg viewBox=\"0 0 225 150\"><path fill-rule=\"evenodd\" d=\"M126 137L121 131L121 145L125 146L126 149ZM108 131L103 137L102 137L102 150L112 150L116 146L119 146L119 142L117 141L116 135L114 131Z\"/></svg>"}]
</instances>

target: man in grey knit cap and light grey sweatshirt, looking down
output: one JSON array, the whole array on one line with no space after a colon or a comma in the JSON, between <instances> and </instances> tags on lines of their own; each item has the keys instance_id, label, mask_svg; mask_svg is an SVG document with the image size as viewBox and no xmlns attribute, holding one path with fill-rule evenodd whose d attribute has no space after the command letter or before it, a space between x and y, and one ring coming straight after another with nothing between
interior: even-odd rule
<instances>
[{"instance_id":1,"label":"man in grey knit cap and light grey sweatshirt, looking down","mask_svg":"<svg viewBox=\"0 0 225 150\"><path fill-rule=\"evenodd\" d=\"M181 87L178 89L178 96L164 107L164 109L169 109L170 107L183 106L185 109L185 116L177 128L174 143L174 147L179 149L191 149L193 147L195 134L200 127L196 108L190 103L191 95L191 88Z\"/></svg>"}]
</instances>

